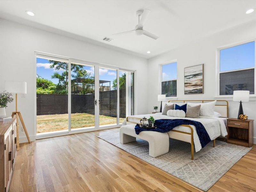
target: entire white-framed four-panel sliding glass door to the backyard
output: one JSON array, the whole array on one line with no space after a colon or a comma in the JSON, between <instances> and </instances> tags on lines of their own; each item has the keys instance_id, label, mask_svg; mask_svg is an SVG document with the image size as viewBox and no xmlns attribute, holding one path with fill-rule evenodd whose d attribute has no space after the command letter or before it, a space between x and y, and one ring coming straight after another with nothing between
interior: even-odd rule
<instances>
[{"instance_id":1,"label":"entire white-framed four-panel sliding glass door to the backyard","mask_svg":"<svg viewBox=\"0 0 256 192\"><path fill-rule=\"evenodd\" d=\"M36 54L37 137L117 127L134 91L134 71Z\"/></svg>"}]
</instances>

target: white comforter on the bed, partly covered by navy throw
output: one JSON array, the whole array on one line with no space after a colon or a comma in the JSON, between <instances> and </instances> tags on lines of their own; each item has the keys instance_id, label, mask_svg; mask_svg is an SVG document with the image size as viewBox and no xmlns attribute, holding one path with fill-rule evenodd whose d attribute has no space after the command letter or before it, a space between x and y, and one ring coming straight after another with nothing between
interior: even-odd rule
<instances>
[{"instance_id":1,"label":"white comforter on the bed, partly covered by navy throw","mask_svg":"<svg viewBox=\"0 0 256 192\"><path fill-rule=\"evenodd\" d=\"M199 116L199 118L188 118L188 117L183 117L183 118L180 117L179 118L179 117L171 117L171 116L167 116L167 115L162 115L162 113L155 113L155 114L130 116L130 117L128 117L128 121L133 122L133 123L140 123L139 119L136 119L136 118L133 118L133 117L149 118L149 116L153 116L155 119L189 119L189 120L201 122L204 125L205 130L209 134L211 140L216 139L220 135L223 136L223 137L228 135L228 132L227 132L225 123L223 121L223 118L220 118L220 117ZM122 125L126 125L126 119L124 120ZM193 138L194 138L195 149L196 149L196 152L197 152L197 151L201 150L202 146L200 144L198 135L196 133L196 127L194 125L191 125L191 126L193 127L193 130L194 130L193 131ZM189 133L191 132L189 127L182 126L182 125L174 127L173 130L189 132Z\"/></svg>"}]
</instances>

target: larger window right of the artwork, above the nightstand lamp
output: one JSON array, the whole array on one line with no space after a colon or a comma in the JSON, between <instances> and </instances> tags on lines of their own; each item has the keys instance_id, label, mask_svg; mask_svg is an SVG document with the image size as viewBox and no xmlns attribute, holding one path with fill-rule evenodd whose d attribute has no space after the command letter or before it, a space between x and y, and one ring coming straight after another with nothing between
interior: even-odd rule
<instances>
[{"instance_id":1,"label":"larger window right of the artwork, above the nightstand lamp","mask_svg":"<svg viewBox=\"0 0 256 192\"><path fill-rule=\"evenodd\" d=\"M236 90L255 94L255 42L221 49L219 55L219 94L233 95Z\"/></svg>"}]
</instances>

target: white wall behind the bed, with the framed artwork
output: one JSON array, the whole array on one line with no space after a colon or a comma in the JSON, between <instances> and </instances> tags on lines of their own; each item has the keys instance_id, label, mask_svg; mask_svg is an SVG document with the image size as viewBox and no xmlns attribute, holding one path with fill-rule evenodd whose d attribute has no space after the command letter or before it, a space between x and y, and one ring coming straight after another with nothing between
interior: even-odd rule
<instances>
[{"instance_id":1,"label":"white wall behind the bed, with the framed artwork","mask_svg":"<svg viewBox=\"0 0 256 192\"><path fill-rule=\"evenodd\" d=\"M157 102L157 94L161 94L161 86L158 78L159 64L177 59L177 97L178 100L230 100L229 117L236 118L239 103L231 101L232 98L215 98L216 95L216 50L218 47L242 42L247 39L255 38L255 23L247 23L237 28L232 28L204 39L188 44L187 46L177 48L156 56L148 60L148 90L154 89L152 94L148 94L148 112L153 110L153 106L160 106ZM171 42L168 42L171 43ZM204 94L184 95L184 68L204 63ZM249 119L256 120L256 102L243 102L244 113ZM256 121L254 121L254 143L256 143Z\"/></svg>"}]
</instances>

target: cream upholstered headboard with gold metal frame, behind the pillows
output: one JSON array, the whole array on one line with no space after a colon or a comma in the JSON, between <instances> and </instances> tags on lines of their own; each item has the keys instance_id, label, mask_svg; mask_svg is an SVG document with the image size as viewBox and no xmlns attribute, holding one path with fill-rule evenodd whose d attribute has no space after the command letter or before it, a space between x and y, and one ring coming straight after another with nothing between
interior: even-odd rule
<instances>
[{"instance_id":1,"label":"cream upholstered headboard with gold metal frame, behind the pillows","mask_svg":"<svg viewBox=\"0 0 256 192\"><path fill-rule=\"evenodd\" d=\"M168 102L172 103L207 103L212 102L215 100L169 100ZM216 104L214 106L214 111L221 114L220 117L227 117L228 118L228 101L227 100L216 100Z\"/></svg>"}]
</instances>

